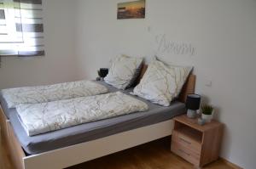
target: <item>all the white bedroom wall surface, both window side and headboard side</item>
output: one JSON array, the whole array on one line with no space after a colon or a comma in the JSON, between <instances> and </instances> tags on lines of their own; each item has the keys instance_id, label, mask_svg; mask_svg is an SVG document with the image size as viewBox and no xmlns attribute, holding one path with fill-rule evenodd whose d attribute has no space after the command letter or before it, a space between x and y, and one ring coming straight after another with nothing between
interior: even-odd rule
<instances>
[{"instance_id":1,"label":"all the white bedroom wall surface, both window side and headboard side","mask_svg":"<svg viewBox=\"0 0 256 169\"><path fill-rule=\"evenodd\" d=\"M255 168L256 1L147 0L145 20L116 20L119 2L44 0L46 56L3 58L0 88L95 78L96 70L119 54L148 60L157 54L194 65L197 93L218 108L217 118L226 126L221 156ZM191 43L195 55L158 51L160 34Z\"/></svg>"}]
</instances>

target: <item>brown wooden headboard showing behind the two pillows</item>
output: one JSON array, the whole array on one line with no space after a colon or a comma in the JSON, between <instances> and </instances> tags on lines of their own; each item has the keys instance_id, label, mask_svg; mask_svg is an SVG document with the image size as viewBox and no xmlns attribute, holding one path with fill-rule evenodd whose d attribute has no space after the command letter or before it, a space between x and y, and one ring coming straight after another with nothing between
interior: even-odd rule
<instances>
[{"instance_id":1,"label":"brown wooden headboard showing behind the two pillows","mask_svg":"<svg viewBox=\"0 0 256 169\"><path fill-rule=\"evenodd\" d=\"M143 65L141 73L137 78L137 84L141 81L147 69L148 69L148 65ZM187 95L190 93L195 93L195 80L196 80L196 76L190 73L187 79L187 82L185 82L183 89L178 96L178 99L181 102L185 103L187 99Z\"/></svg>"}]
</instances>

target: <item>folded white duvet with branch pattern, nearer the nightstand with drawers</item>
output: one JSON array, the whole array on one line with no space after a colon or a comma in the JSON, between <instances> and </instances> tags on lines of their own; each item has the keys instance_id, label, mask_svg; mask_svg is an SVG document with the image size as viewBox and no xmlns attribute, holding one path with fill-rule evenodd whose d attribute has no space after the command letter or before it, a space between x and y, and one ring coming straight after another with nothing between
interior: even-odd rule
<instances>
[{"instance_id":1,"label":"folded white duvet with branch pattern, nearer the nightstand with drawers","mask_svg":"<svg viewBox=\"0 0 256 169\"><path fill-rule=\"evenodd\" d=\"M148 105L116 92L41 104L20 104L16 110L27 135L33 136L90 121L145 111L148 110Z\"/></svg>"}]
</instances>

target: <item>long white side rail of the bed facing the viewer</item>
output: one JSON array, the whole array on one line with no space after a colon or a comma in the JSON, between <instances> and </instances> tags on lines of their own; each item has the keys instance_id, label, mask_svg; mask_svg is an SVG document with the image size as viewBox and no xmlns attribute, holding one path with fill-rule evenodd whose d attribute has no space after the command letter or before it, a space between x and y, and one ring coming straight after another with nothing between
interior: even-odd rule
<instances>
[{"instance_id":1,"label":"long white side rail of the bed facing the viewer","mask_svg":"<svg viewBox=\"0 0 256 169\"><path fill-rule=\"evenodd\" d=\"M61 169L104 155L110 155L123 149L129 149L139 144L145 144L152 140L169 136L171 133L172 120L164 121L83 144L76 144L63 149L24 157L24 168Z\"/></svg>"}]
</instances>

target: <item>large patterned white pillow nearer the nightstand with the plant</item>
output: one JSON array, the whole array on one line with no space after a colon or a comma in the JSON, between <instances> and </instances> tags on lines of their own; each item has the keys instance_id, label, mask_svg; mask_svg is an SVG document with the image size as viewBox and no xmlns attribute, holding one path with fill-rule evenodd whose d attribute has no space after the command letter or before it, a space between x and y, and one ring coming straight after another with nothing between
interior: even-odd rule
<instances>
[{"instance_id":1,"label":"large patterned white pillow nearer the nightstand with the plant","mask_svg":"<svg viewBox=\"0 0 256 169\"><path fill-rule=\"evenodd\" d=\"M192 67L166 65L154 60L148 65L143 79L134 88L133 94L155 104L169 106L177 98Z\"/></svg>"}]
</instances>

